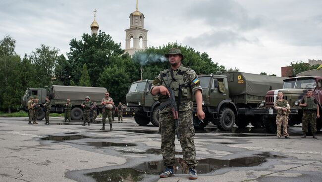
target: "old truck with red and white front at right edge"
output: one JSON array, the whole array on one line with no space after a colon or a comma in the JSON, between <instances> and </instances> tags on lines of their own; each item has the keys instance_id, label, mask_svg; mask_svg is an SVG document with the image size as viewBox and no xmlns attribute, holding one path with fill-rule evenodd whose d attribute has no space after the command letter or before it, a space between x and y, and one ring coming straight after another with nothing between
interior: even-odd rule
<instances>
[{"instance_id":1,"label":"old truck with red and white front at right edge","mask_svg":"<svg viewBox=\"0 0 322 182\"><path fill-rule=\"evenodd\" d=\"M269 109L269 115L268 119L265 122L265 126L268 133L275 133L276 131L275 118L277 111L273 109L273 105L274 101L277 99L278 91L283 92L283 99L287 100L287 102L291 106L291 113L289 116L288 125L293 126L302 123L303 111L302 107L299 106L299 100L307 94L308 90L312 90L314 92L313 95L319 102L321 114L322 76L300 76L305 75L306 73L298 74L296 77L285 79L284 85L282 87L283 89L277 89L267 92L265 97L265 104L266 107ZM321 118L317 119L317 129L318 131L322 129Z\"/></svg>"}]
</instances>

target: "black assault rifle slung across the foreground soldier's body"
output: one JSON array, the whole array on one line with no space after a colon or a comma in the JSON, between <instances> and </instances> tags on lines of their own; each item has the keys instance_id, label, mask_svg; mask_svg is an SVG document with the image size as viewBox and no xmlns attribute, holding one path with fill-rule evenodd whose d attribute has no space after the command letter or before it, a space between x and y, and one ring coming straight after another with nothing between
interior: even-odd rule
<instances>
[{"instance_id":1,"label":"black assault rifle slung across the foreground soldier's body","mask_svg":"<svg viewBox=\"0 0 322 182\"><path fill-rule=\"evenodd\" d=\"M163 77L162 78L162 81L164 82L163 80ZM180 141L180 135L179 135L179 115L178 115L178 106L175 102L175 96L174 96L174 92L173 90L170 88L170 85L169 85L169 79L168 79L168 75L166 74L166 78L168 80L168 84L165 84L166 86L166 89L169 91L170 93L170 96L169 96L169 100L165 101L165 102L162 102L161 105L160 105L160 110L164 109L164 107L170 105L171 107L171 110L172 110L172 116L173 116L173 119L174 119L174 123L175 123L175 128L177 130L177 138L178 138L178 141ZM180 104L180 93L179 93L179 100L178 100L178 104Z\"/></svg>"}]
</instances>

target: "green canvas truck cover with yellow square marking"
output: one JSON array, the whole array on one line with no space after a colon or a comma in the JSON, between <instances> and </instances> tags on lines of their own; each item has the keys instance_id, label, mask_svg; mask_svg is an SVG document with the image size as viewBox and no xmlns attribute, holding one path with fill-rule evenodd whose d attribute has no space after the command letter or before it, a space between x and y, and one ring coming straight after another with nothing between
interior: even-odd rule
<instances>
[{"instance_id":1,"label":"green canvas truck cover with yellow square marking","mask_svg":"<svg viewBox=\"0 0 322 182\"><path fill-rule=\"evenodd\" d=\"M274 77L243 72L226 72L230 95L265 96L267 91L283 88L286 77Z\"/></svg>"}]
</instances>

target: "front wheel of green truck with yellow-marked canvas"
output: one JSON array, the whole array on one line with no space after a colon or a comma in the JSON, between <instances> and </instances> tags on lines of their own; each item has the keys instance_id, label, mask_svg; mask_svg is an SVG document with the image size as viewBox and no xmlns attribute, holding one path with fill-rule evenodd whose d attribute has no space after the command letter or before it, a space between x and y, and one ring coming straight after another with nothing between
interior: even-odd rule
<instances>
[{"instance_id":1,"label":"front wheel of green truck with yellow-marked canvas","mask_svg":"<svg viewBox=\"0 0 322 182\"><path fill-rule=\"evenodd\" d=\"M235 114L229 108L223 108L219 113L219 119L217 121L217 127L221 131L228 131L234 127Z\"/></svg>"}]
</instances>

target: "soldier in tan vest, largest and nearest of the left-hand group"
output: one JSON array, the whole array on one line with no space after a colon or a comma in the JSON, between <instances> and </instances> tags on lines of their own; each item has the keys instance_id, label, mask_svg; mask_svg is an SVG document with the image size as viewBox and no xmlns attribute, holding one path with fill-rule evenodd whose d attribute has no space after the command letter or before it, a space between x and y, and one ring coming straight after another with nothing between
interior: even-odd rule
<instances>
[{"instance_id":1,"label":"soldier in tan vest, largest and nearest of the left-hand group","mask_svg":"<svg viewBox=\"0 0 322 182\"><path fill-rule=\"evenodd\" d=\"M105 97L102 99L101 105L103 105L103 118L102 123L103 126L100 130L105 130L105 122L106 117L108 117L109 129L113 130L112 128L112 104L114 104L113 99L109 97L109 92L105 93Z\"/></svg>"}]
</instances>

